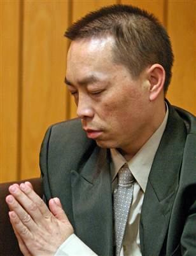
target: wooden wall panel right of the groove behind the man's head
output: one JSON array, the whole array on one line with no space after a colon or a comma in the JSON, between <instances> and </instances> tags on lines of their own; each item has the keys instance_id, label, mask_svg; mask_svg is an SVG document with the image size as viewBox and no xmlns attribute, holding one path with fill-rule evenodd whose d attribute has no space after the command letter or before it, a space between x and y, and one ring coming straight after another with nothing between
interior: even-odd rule
<instances>
[{"instance_id":1,"label":"wooden wall panel right of the groove behind the man's head","mask_svg":"<svg viewBox=\"0 0 196 256\"><path fill-rule=\"evenodd\" d=\"M168 99L196 115L196 1L169 1L167 29L174 50Z\"/></svg>"}]
</instances>

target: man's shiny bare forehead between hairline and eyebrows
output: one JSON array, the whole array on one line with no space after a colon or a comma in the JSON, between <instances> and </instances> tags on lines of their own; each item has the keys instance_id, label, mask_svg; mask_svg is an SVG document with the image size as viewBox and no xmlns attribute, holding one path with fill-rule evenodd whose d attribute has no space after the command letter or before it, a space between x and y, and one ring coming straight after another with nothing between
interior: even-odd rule
<instances>
[{"instance_id":1,"label":"man's shiny bare forehead between hairline and eyebrows","mask_svg":"<svg viewBox=\"0 0 196 256\"><path fill-rule=\"evenodd\" d=\"M113 43L111 36L73 41L67 54L67 78L111 71L115 66L112 60Z\"/></svg>"}]
</instances>

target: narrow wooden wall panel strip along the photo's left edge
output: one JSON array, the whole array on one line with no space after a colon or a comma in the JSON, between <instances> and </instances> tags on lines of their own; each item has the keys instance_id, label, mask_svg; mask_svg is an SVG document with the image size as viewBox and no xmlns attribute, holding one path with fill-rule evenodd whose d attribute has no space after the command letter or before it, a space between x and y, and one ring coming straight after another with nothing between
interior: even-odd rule
<instances>
[{"instance_id":1,"label":"narrow wooden wall panel strip along the photo's left edge","mask_svg":"<svg viewBox=\"0 0 196 256\"><path fill-rule=\"evenodd\" d=\"M18 178L20 3L0 1L0 182Z\"/></svg>"}]
</instances>

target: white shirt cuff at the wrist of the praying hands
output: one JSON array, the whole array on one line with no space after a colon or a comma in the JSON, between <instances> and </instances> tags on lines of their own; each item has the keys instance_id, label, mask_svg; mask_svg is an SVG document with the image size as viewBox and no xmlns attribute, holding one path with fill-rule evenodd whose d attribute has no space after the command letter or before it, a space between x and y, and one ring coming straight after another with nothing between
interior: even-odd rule
<instances>
[{"instance_id":1,"label":"white shirt cuff at the wrist of the praying hands","mask_svg":"<svg viewBox=\"0 0 196 256\"><path fill-rule=\"evenodd\" d=\"M60 245L54 256L95 256L94 253L83 241L75 234L69 236L69 238Z\"/></svg>"}]
</instances>

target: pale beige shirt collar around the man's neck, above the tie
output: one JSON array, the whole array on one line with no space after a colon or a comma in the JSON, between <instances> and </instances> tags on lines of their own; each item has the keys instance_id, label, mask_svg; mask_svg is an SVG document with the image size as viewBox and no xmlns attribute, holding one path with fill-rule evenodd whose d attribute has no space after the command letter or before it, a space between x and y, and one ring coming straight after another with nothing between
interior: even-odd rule
<instances>
[{"instance_id":1,"label":"pale beige shirt collar around the man's neck, above the tie","mask_svg":"<svg viewBox=\"0 0 196 256\"><path fill-rule=\"evenodd\" d=\"M166 104L166 103L165 103ZM143 192L146 190L146 185L148 182L148 176L150 174L150 169L153 163L153 159L158 149L158 145L162 138L162 135L165 130L165 126L167 124L168 118L168 107L166 104L167 111L165 113L164 120L162 124L158 127L157 131L155 131L152 136L146 141L146 143L142 146L142 148L134 155L132 159L128 162L121 155L118 150L115 148L111 148L111 178L112 181L115 180L116 174L119 169L127 162L131 173L136 179L139 186L142 188Z\"/></svg>"}]
</instances>

